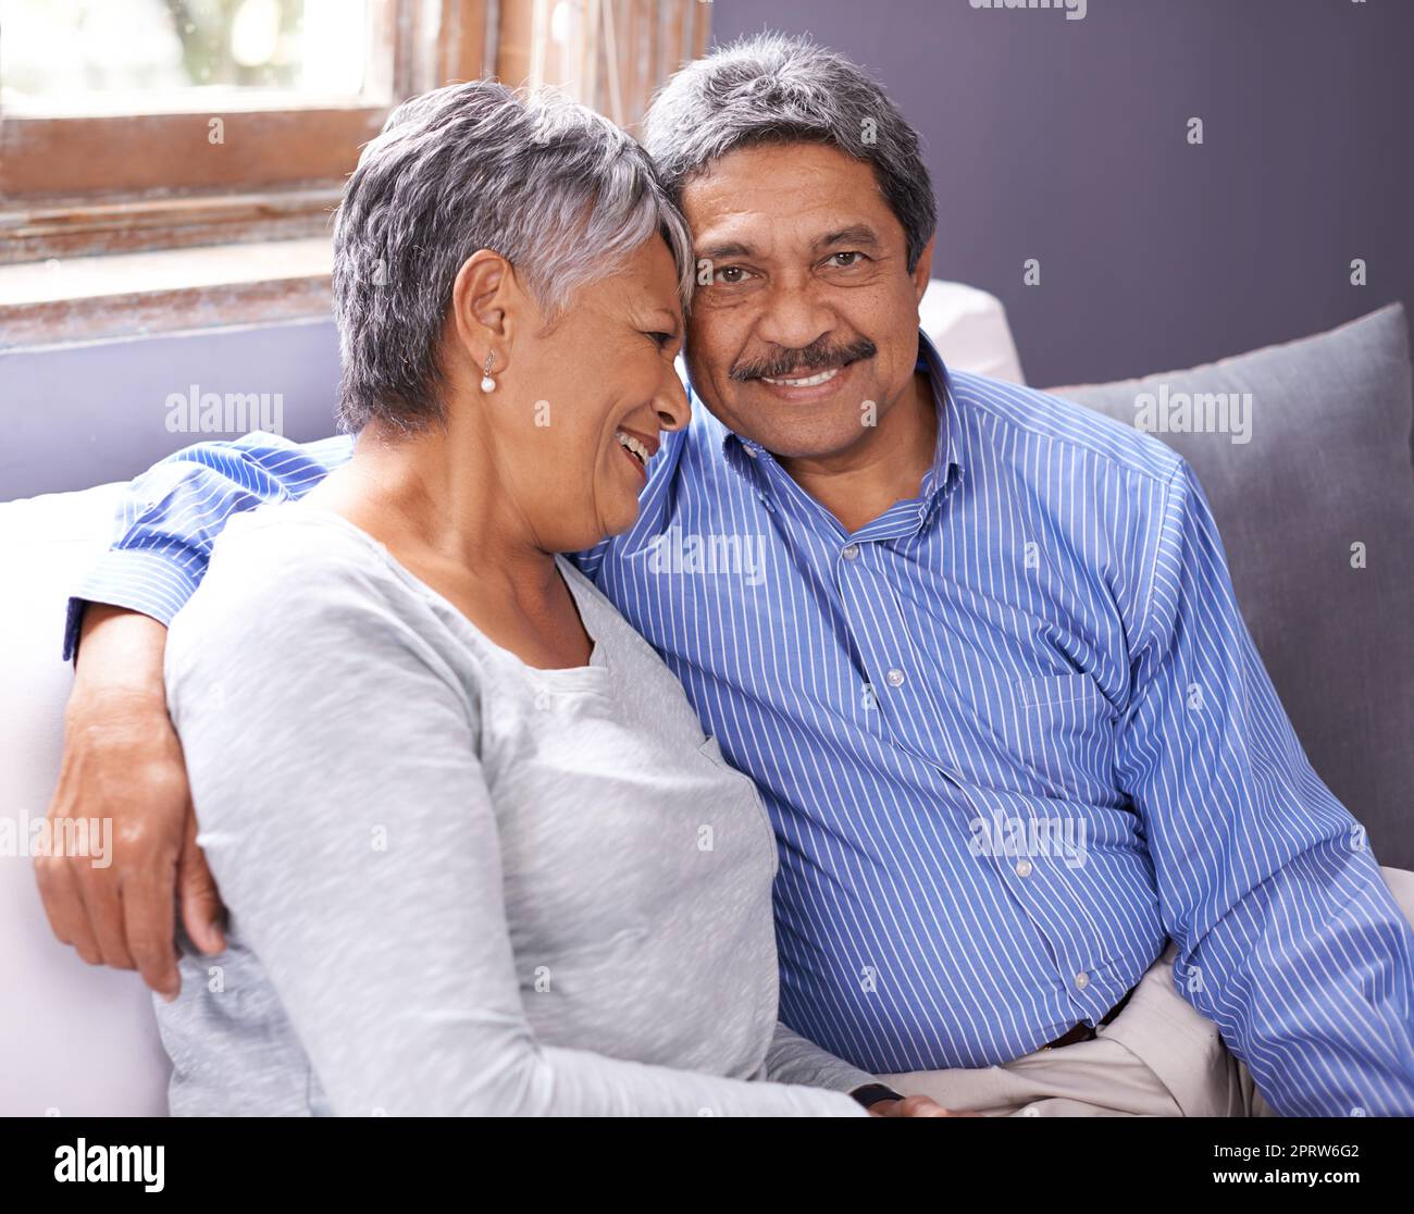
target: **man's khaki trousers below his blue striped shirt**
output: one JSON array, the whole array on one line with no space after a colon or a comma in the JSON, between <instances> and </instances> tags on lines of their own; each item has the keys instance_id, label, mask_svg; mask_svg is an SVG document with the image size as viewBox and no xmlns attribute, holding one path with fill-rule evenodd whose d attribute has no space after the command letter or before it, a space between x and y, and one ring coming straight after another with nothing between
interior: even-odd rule
<instances>
[{"instance_id":1,"label":"man's khaki trousers below his blue striped shirt","mask_svg":"<svg viewBox=\"0 0 1414 1214\"><path fill-rule=\"evenodd\" d=\"M1381 872L1414 925L1414 873ZM1176 955L1169 941L1092 1041L1036 1050L1001 1067L880 1080L904 1095L986 1116L1275 1116L1217 1026L1174 989Z\"/></svg>"}]
</instances>

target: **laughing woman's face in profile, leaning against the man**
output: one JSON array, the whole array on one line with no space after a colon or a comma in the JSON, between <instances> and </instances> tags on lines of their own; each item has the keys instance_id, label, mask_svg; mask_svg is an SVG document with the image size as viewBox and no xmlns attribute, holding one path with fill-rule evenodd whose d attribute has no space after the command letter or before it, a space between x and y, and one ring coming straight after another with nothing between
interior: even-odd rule
<instances>
[{"instance_id":1,"label":"laughing woman's face in profile, leaning against the man","mask_svg":"<svg viewBox=\"0 0 1414 1214\"><path fill-rule=\"evenodd\" d=\"M527 321L485 407L502 484L539 546L574 552L632 526L659 430L687 424L673 256L648 241L621 272L577 290L553 328Z\"/></svg>"}]
</instances>

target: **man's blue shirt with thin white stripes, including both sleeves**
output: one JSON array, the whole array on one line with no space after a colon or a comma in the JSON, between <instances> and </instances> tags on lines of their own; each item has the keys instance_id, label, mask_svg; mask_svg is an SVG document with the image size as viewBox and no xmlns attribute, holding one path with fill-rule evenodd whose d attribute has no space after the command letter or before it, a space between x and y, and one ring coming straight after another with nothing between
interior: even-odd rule
<instances>
[{"instance_id":1,"label":"man's blue shirt with thin white stripes, including both sleeves","mask_svg":"<svg viewBox=\"0 0 1414 1214\"><path fill-rule=\"evenodd\" d=\"M1414 1114L1414 932L1297 741L1192 470L926 337L919 369L932 468L861 529L699 407L635 526L578 556L761 787L781 1017L880 1074L1001 1064L1172 938L1278 1112ZM233 511L349 451L250 434L157 464L66 647L82 600L170 620Z\"/></svg>"}]
</instances>

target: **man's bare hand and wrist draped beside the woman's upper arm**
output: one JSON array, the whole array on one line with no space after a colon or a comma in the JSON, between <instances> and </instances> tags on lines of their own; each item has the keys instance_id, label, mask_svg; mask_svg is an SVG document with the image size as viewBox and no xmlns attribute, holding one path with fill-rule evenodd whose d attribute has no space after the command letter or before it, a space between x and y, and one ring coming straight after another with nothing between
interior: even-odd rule
<instances>
[{"instance_id":1,"label":"man's bare hand and wrist draped beside the woman's upper arm","mask_svg":"<svg viewBox=\"0 0 1414 1214\"><path fill-rule=\"evenodd\" d=\"M137 969L165 999L181 986L175 901L202 952L225 949L221 897L197 848L181 743L167 716L167 630L136 611L90 606L64 719L52 823L110 818L107 867L89 856L38 856L49 927L89 965ZM62 833L59 835L62 838Z\"/></svg>"}]
</instances>

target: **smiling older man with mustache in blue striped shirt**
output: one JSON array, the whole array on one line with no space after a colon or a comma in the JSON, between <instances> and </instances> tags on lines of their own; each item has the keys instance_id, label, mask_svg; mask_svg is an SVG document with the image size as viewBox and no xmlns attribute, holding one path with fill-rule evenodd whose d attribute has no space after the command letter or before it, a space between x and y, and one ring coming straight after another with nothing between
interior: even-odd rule
<instances>
[{"instance_id":1,"label":"smiling older man with mustache in blue striped shirt","mask_svg":"<svg viewBox=\"0 0 1414 1214\"><path fill-rule=\"evenodd\" d=\"M697 246L706 409L580 562L766 798L782 1017L959 1109L1414 1114L1414 932L1301 751L1191 468L945 368L918 139L844 58L718 51L646 143ZM178 869L219 947L161 625L233 511L348 449L174 456L81 587L71 644L109 606L51 812L99 802L127 859L41 883L88 959L170 990Z\"/></svg>"}]
</instances>

